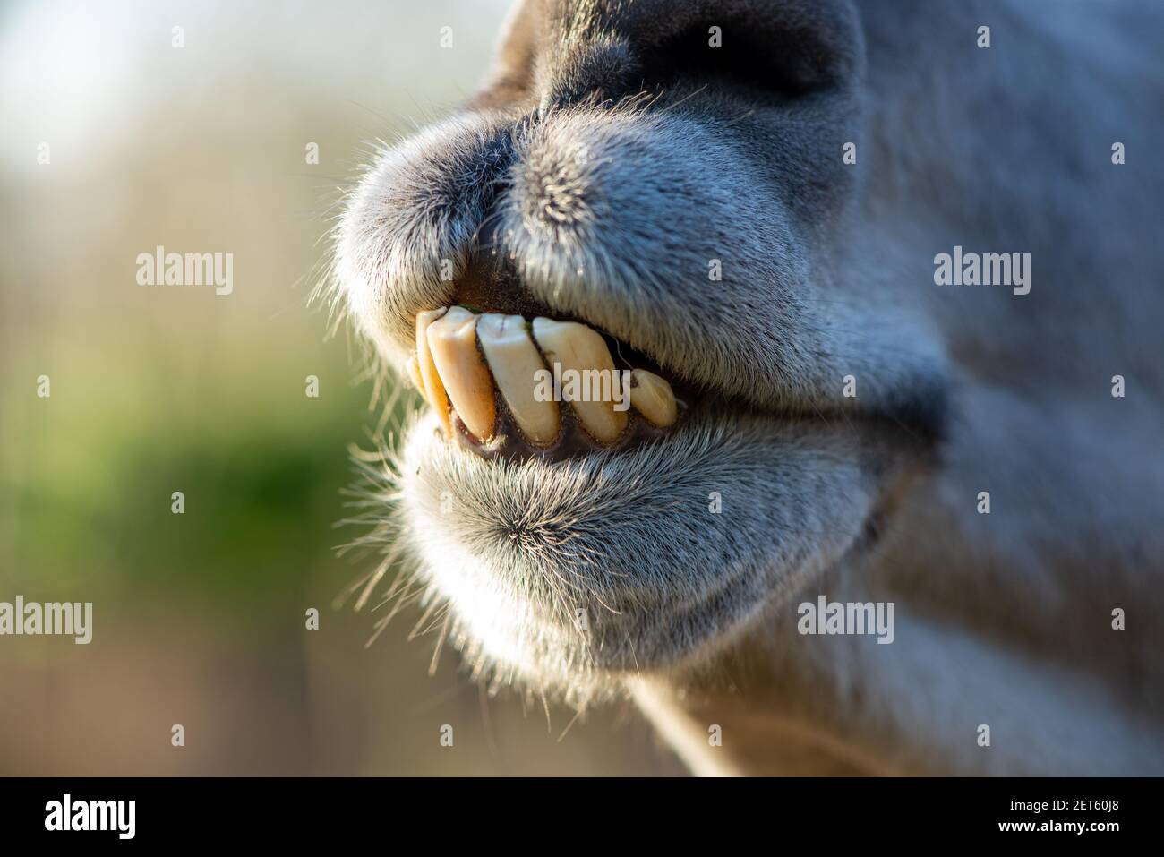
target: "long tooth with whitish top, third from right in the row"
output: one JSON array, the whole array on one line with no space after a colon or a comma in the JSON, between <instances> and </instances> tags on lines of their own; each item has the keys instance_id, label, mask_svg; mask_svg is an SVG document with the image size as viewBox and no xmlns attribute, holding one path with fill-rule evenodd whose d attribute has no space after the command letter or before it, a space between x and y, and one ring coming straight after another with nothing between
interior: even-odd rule
<instances>
[{"instance_id":1,"label":"long tooth with whitish top, third from right in the row","mask_svg":"<svg viewBox=\"0 0 1164 857\"><path fill-rule=\"evenodd\" d=\"M561 430L561 415L553 399L534 396L537 373L546 364L530 339L520 316L488 313L477 320L477 339L510 413L525 437L539 446L553 442Z\"/></svg>"}]
</instances>

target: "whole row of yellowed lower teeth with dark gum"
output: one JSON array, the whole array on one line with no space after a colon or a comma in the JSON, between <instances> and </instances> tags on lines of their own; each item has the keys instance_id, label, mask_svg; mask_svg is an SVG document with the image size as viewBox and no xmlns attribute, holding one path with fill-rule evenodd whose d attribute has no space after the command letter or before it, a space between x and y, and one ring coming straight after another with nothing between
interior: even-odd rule
<instances>
[{"instance_id":1,"label":"whole row of yellowed lower teeth with dark gum","mask_svg":"<svg viewBox=\"0 0 1164 857\"><path fill-rule=\"evenodd\" d=\"M616 369L601 333L577 321L477 313L417 313L406 377L445 435L487 458L615 449L656 437L686 404L643 368Z\"/></svg>"}]
</instances>

